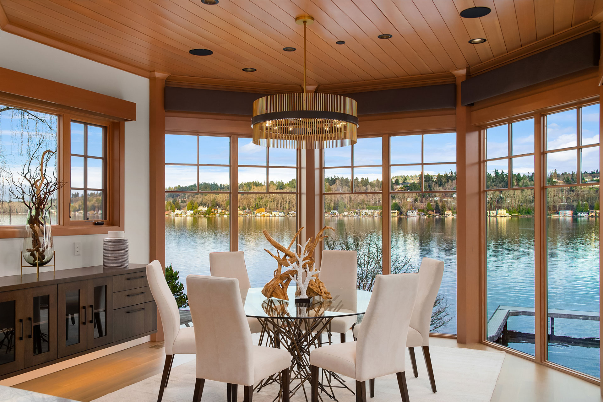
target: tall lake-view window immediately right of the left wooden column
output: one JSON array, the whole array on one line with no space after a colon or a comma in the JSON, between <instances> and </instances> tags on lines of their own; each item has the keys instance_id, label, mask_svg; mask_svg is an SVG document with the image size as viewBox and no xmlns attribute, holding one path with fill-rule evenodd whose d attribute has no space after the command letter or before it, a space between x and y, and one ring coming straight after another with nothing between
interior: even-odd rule
<instances>
[{"instance_id":1,"label":"tall lake-view window immediately right of the left wooden column","mask_svg":"<svg viewBox=\"0 0 603 402\"><path fill-rule=\"evenodd\" d=\"M166 264L186 286L213 251L230 251L230 137L166 134Z\"/></svg>"}]
</instances>

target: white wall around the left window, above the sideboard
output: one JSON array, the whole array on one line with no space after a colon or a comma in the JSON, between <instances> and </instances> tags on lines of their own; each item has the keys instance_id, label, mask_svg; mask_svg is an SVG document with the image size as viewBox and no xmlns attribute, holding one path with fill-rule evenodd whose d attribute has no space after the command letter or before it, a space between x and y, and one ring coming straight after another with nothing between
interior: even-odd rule
<instances>
[{"instance_id":1,"label":"white wall around the left window, above the sideboard","mask_svg":"<svg viewBox=\"0 0 603 402\"><path fill-rule=\"evenodd\" d=\"M125 235L130 262L147 263L149 80L1 30L0 67L136 102L136 121L125 124ZM57 269L101 265L103 237L55 236ZM80 256L73 255L74 241L81 242ZM22 245L22 239L0 239L0 277L19 274Z\"/></svg>"}]
</instances>

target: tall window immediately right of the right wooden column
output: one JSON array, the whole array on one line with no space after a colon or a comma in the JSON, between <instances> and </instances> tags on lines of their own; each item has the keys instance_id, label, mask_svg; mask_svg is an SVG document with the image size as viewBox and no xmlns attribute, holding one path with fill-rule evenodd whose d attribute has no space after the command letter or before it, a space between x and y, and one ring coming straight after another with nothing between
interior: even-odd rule
<instances>
[{"instance_id":1,"label":"tall window immediately right of the right wooden column","mask_svg":"<svg viewBox=\"0 0 603 402\"><path fill-rule=\"evenodd\" d=\"M533 356L534 119L487 128L485 145L487 339Z\"/></svg>"}]
</instances>

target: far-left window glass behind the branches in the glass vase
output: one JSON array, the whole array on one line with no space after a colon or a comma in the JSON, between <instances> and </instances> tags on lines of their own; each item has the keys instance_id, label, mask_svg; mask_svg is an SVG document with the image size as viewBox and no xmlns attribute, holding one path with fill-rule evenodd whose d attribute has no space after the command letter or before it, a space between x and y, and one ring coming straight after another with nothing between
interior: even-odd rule
<instances>
[{"instance_id":1,"label":"far-left window glass behind the branches in the glass vase","mask_svg":"<svg viewBox=\"0 0 603 402\"><path fill-rule=\"evenodd\" d=\"M0 225L25 224L27 207L10 195L11 181L21 182L19 173L27 169L32 155L39 159L46 149L57 151L57 124L57 115L0 104ZM49 159L47 173L58 176L56 154ZM57 196L48 207L52 224L57 224Z\"/></svg>"}]
</instances>

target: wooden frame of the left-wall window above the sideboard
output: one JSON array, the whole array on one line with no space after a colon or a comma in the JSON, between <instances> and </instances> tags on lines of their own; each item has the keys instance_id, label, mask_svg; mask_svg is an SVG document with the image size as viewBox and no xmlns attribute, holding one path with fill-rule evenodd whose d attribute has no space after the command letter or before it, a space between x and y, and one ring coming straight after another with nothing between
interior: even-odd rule
<instances>
[{"instance_id":1,"label":"wooden frame of the left-wall window above the sideboard","mask_svg":"<svg viewBox=\"0 0 603 402\"><path fill-rule=\"evenodd\" d=\"M87 92L87 91L86 91ZM58 191L58 224L52 225L54 236L103 234L108 231L124 230L124 121L101 117L96 113L72 110L70 107L52 105L22 96L11 96L0 92L0 104L25 108L31 111L57 116L57 171L59 180L66 182ZM106 208L103 225L93 221L72 221L71 199L71 121L106 127ZM0 239L22 237L24 225L0 226Z\"/></svg>"}]
</instances>

